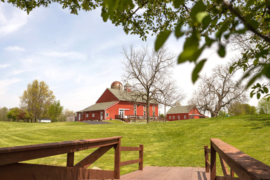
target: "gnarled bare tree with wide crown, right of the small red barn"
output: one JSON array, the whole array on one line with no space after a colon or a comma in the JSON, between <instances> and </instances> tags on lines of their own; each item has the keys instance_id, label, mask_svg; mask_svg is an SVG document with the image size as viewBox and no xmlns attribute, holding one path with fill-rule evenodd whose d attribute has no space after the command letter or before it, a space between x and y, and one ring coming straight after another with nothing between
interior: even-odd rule
<instances>
[{"instance_id":1,"label":"gnarled bare tree with wide crown, right of the small red barn","mask_svg":"<svg viewBox=\"0 0 270 180\"><path fill-rule=\"evenodd\" d=\"M217 117L218 111L235 103L248 101L247 89L241 82L233 79L235 71L230 74L230 65L217 65L212 69L212 75L200 77L198 89L194 90L188 101L190 106L196 106L201 111L209 112L211 117Z\"/></svg>"}]
</instances>

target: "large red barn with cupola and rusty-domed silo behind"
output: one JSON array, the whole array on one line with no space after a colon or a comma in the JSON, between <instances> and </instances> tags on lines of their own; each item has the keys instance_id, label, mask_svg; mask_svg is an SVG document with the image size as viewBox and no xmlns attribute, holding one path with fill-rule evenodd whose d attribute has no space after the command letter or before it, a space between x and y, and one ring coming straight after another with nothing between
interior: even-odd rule
<instances>
[{"instance_id":1,"label":"large red barn with cupola and rusty-domed silo behind","mask_svg":"<svg viewBox=\"0 0 270 180\"><path fill-rule=\"evenodd\" d=\"M123 85L119 81L114 81L111 88L107 88L103 94L93 104L81 111L77 111L77 120L106 120L115 119L117 115L127 116L146 116L146 102L137 100L138 103L145 106L137 106L131 101L133 95L131 86L127 83ZM158 115L158 104L155 101L150 101L150 116Z\"/></svg>"}]
</instances>

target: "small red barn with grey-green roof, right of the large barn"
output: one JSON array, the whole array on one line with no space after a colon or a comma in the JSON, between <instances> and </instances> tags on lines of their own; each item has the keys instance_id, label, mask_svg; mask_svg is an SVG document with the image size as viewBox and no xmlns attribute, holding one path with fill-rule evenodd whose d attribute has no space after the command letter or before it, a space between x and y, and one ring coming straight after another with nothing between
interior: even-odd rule
<instances>
[{"instance_id":1,"label":"small red barn with grey-green roof, right of the large barn","mask_svg":"<svg viewBox=\"0 0 270 180\"><path fill-rule=\"evenodd\" d=\"M167 111L168 121L198 119L198 118L205 118L205 116L201 114L196 107L178 106L178 107L171 107Z\"/></svg>"}]
</instances>

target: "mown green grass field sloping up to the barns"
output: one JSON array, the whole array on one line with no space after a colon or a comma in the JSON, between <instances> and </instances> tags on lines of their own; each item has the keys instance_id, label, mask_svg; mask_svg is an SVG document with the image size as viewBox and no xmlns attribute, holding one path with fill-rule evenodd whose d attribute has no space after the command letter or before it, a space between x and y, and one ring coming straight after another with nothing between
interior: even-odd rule
<instances>
[{"instance_id":1,"label":"mown green grass field sloping up to the barns","mask_svg":"<svg viewBox=\"0 0 270 180\"><path fill-rule=\"evenodd\" d=\"M0 122L0 147L48 142L123 136L122 146L144 144L144 166L204 167L204 145L220 138L244 153L270 165L270 114L205 118L150 124L90 125L82 122ZM92 151L75 152L75 164ZM114 150L109 150L91 167L114 168ZM122 152L121 161L139 158L138 152ZM217 173L222 174L217 158ZM27 161L35 164L66 165L66 154ZM138 169L138 164L121 167L121 174Z\"/></svg>"}]
</instances>

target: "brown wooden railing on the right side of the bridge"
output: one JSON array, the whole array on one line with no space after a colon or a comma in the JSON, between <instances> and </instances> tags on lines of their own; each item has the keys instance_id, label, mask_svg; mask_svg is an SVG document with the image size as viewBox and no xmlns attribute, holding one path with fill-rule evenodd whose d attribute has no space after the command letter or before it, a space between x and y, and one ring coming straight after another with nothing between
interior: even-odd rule
<instances>
[{"instance_id":1,"label":"brown wooden railing on the right side of the bridge","mask_svg":"<svg viewBox=\"0 0 270 180\"><path fill-rule=\"evenodd\" d=\"M211 148L204 146L205 172L210 172L210 180L270 179L270 166L258 161L217 138L211 138ZM216 175L216 152L218 153L224 176ZM211 163L209 162L209 153ZM230 174L227 165L231 168ZM234 177L234 173L239 178Z\"/></svg>"}]
</instances>

